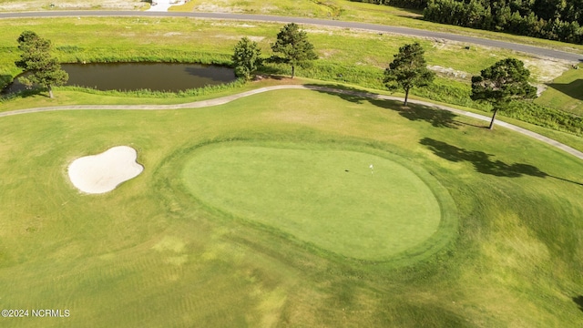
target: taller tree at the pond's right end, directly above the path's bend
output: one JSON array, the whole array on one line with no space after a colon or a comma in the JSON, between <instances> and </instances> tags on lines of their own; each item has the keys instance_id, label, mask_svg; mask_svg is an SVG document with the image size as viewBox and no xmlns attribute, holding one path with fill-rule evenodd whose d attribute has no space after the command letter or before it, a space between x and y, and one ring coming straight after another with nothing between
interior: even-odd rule
<instances>
[{"instance_id":1,"label":"taller tree at the pond's right end, directly above the path's bend","mask_svg":"<svg viewBox=\"0 0 583 328\"><path fill-rule=\"evenodd\" d=\"M308 41L308 35L295 23L281 28L277 40L271 44L271 50L281 53L281 57L272 56L271 61L292 66L292 78L295 76L295 67L307 67L311 60L318 59L313 45Z\"/></svg>"}]
</instances>

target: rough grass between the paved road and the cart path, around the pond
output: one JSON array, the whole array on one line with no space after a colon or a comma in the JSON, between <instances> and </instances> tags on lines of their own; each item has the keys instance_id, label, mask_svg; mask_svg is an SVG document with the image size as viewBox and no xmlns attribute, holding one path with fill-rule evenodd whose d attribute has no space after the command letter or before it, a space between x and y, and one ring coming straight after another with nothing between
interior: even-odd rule
<instances>
[{"instance_id":1,"label":"rough grass between the paved road and the cart path, around the pond","mask_svg":"<svg viewBox=\"0 0 583 328\"><path fill-rule=\"evenodd\" d=\"M277 24L253 23L251 25L188 18L55 18L30 21L16 19L4 20L2 24L8 27L9 31L1 36L5 56L2 56L0 69L8 73L5 75L7 78L18 73L14 66L14 60L17 58L15 38L26 28L35 29L37 33L51 39L56 46L56 55L64 62L183 61L215 64L230 63L232 46L242 36L250 36L257 40L267 56L270 53L270 42L273 42L280 28ZM398 47L411 42L411 38L404 36L379 36L373 33L311 26L306 26L306 28L321 59L316 61L311 68L301 70L301 75L375 89L383 89L381 83L383 69L388 65ZM102 40L108 40L108 42L104 44ZM476 46L468 50L463 45L455 43L420 41L426 49L430 65L449 67L459 74L457 77L453 77L452 74L442 74L433 87L414 90L414 94L466 107L476 107L476 104L472 103L468 97L471 75L478 74L482 68L493 64L498 58L518 56L503 50ZM362 51L355 52L354 48L362 49ZM531 69L535 77L542 77L547 73L540 71L543 63L526 56L518 57L528 59L532 63ZM287 68L268 67L267 71L285 74ZM68 89L71 90L71 88ZM230 87L219 87L220 90L222 93L231 92ZM182 95L137 92L125 99L120 98L122 95L116 92L92 91L97 95L110 96L100 101L118 103L189 101L197 97L209 97L209 92L217 92L217 90L211 88L202 92L189 91ZM147 100L144 97L152 97L152 99ZM160 97L165 99L160 100ZM66 101L88 98L97 99L87 94L74 93L74 96L67 97ZM50 101L66 102L63 100ZM50 101L38 100L39 104ZM27 98L22 101L5 102L4 108L35 107L34 103L35 100ZM477 107L485 109L485 107ZM567 129L571 133L580 133L577 126L557 125L557 119L537 121L536 117L528 116L528 111L526 114L518 113L511 116L551 128Z\"/></svg>"}]
</instances>

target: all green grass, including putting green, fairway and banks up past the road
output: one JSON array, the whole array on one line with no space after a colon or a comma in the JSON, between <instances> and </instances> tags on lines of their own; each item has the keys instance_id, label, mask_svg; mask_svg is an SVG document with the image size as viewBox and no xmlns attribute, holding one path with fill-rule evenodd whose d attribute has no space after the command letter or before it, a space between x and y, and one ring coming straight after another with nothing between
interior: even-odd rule
<instances>
[{"instance_id":1,"label":"all green grass, including putting green, fairway and banks up past the road","mask_svg":"<svg viewBox=\"0 0 583 328\"><path fill-rule=\"evenodd\" d=\"M209 5L532 41L343 0L192 0L175 9ZM382 93L384 67L412 41L304 27L321 58L293 80L183 95L59 87L55 98L2 99L0 111L177 104L281 84ZM229 64L240 37L258 41L267 56L280 28L189 18L3 19L0 82L19 73L15 40L26 29L49 38L63 62ZM436 91L415 91L443 102L469 92L480 69L517 56L421 43L430 65L467 73L441 73ZM566 67L518 57L539 81ZM581 115L579 72L548 82L537 103ZM29 310L0 318L0 326L577 327L583 161L505 128L401 104L279 90L211 108L0 118L0 307ZM504 120L583 147L574 134ZM120 145L138 150L144 171L106 194L76 190L67 166ZM70 315L34 318L34 309Z\"/></svg>"}]
</instances>

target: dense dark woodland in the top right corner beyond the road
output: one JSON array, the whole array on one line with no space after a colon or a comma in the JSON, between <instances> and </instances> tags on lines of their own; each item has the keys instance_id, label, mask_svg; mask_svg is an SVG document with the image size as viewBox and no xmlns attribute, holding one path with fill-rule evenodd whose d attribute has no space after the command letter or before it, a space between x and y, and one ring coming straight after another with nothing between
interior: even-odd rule
<instances>
[{"instance_id":1,"label":"dense dark woodland in the top right corner beyond the road","mask_svg":"<svg viewBox=\"0 0 583 328\"><path fill-rule=\"evenodd\" d=\"M424 19L569 43L583 43L581 0L430 0Z\"/></svg>"}]
</instances>

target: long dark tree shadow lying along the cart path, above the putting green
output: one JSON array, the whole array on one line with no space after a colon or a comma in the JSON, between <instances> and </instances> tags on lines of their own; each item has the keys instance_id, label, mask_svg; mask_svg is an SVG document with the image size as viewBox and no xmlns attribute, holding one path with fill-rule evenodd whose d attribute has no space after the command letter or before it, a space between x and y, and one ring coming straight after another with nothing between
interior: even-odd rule
<instances>
[{"instance_id":1,"label":"long dark tree shadow lying along the cart path, above the putting green","mask_svg":"<svg viewBox=\"0 0 583 328\"><path fill-rule=\"evenodd\" d=\"M455 121L457 115L443 109L431 108L413 103L409 103L407 107L404 107L401 100L387 99L383 96L341 85L331 86L337 91L324 90L322 89L322 86L317 85L307 85L306 87L328 95L341 97L344 100L355 104L363 104L365 101L368 101L379 108L394 110L398 112L399 115L409 120L422 120L430 123L435 128L457 128L457 126L460 125L459 122Z\"/></svg>"}]
</instances>

